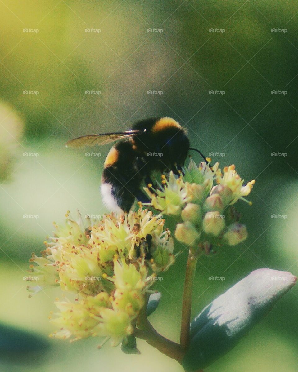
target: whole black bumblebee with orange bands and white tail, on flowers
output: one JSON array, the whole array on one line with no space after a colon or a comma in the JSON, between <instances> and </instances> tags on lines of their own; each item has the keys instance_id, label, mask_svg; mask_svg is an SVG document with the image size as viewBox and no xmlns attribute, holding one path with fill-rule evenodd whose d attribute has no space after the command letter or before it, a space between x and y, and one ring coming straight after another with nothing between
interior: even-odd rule
<instances>
[{"instance_id":1,"label":"whole black bumblebee with orange bands and white tail, on flowers","mask_svg":"<svg viewBox=\"0 0 298 372\"><path fill-rule=\"evenodd\" d=\"M152 183L153 171L173 170L178 173L188 150L196 150L189 147L186 129L168 117L138 121L125 132L78 137L68 141L66 146L105 145L118 140L104 162L101 194L111 211L126 213L136 199L148 201L140 186L143 182Z\"/></svg>"}]
</instances>

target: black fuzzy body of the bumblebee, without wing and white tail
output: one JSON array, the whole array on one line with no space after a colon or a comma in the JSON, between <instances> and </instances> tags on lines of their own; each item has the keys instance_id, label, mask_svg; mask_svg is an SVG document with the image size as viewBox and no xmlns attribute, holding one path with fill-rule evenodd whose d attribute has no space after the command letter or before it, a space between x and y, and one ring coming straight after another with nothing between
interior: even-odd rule
<instances>
[{"instance_id":1,"label":"black fuzzy body of the bumblebee, without wing and white tail","mask_svg":"<svg viewBox=\"0 0 298 372\"><path fill-rule=\"evenodd\" d=\"M154 131L160 118L146 119L136 122L131 129L140 133L121 140L114 145L117 158L112 164L105 165L102 173L102 183L111 186L112 197L117 205L129 212L135 199L146 201L140 190L144 179L149 178L153 170L177 172L186 160L189 140L184 128L171 125L163 118L165 125ZM178 124L178 123L177 123Z\"/></svg>"}]
</instances>

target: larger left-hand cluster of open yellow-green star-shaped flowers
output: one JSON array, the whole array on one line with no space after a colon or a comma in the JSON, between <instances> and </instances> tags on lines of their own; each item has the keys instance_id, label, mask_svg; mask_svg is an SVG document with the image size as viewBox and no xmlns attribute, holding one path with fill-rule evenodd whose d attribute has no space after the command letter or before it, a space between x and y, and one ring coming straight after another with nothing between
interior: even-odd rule
<instances>
[{"instance_id":1,"label":"larger left-hand cluster of open yellow-green star-shaped flowers","mask_svg":"<svg viewBox=\"0 0 298 372\"><path fill-rule=\"evenodd\" d=\"M60 286L76 294L75 303L55 303L53 337L100 336L116 346L133 333L156 275L174 263L170 232L146 209L99 221L66 217L64 226L55 224L42 257L32 254L30 271L39 285L28 290Z\"/></svg>"}]
</instances>

